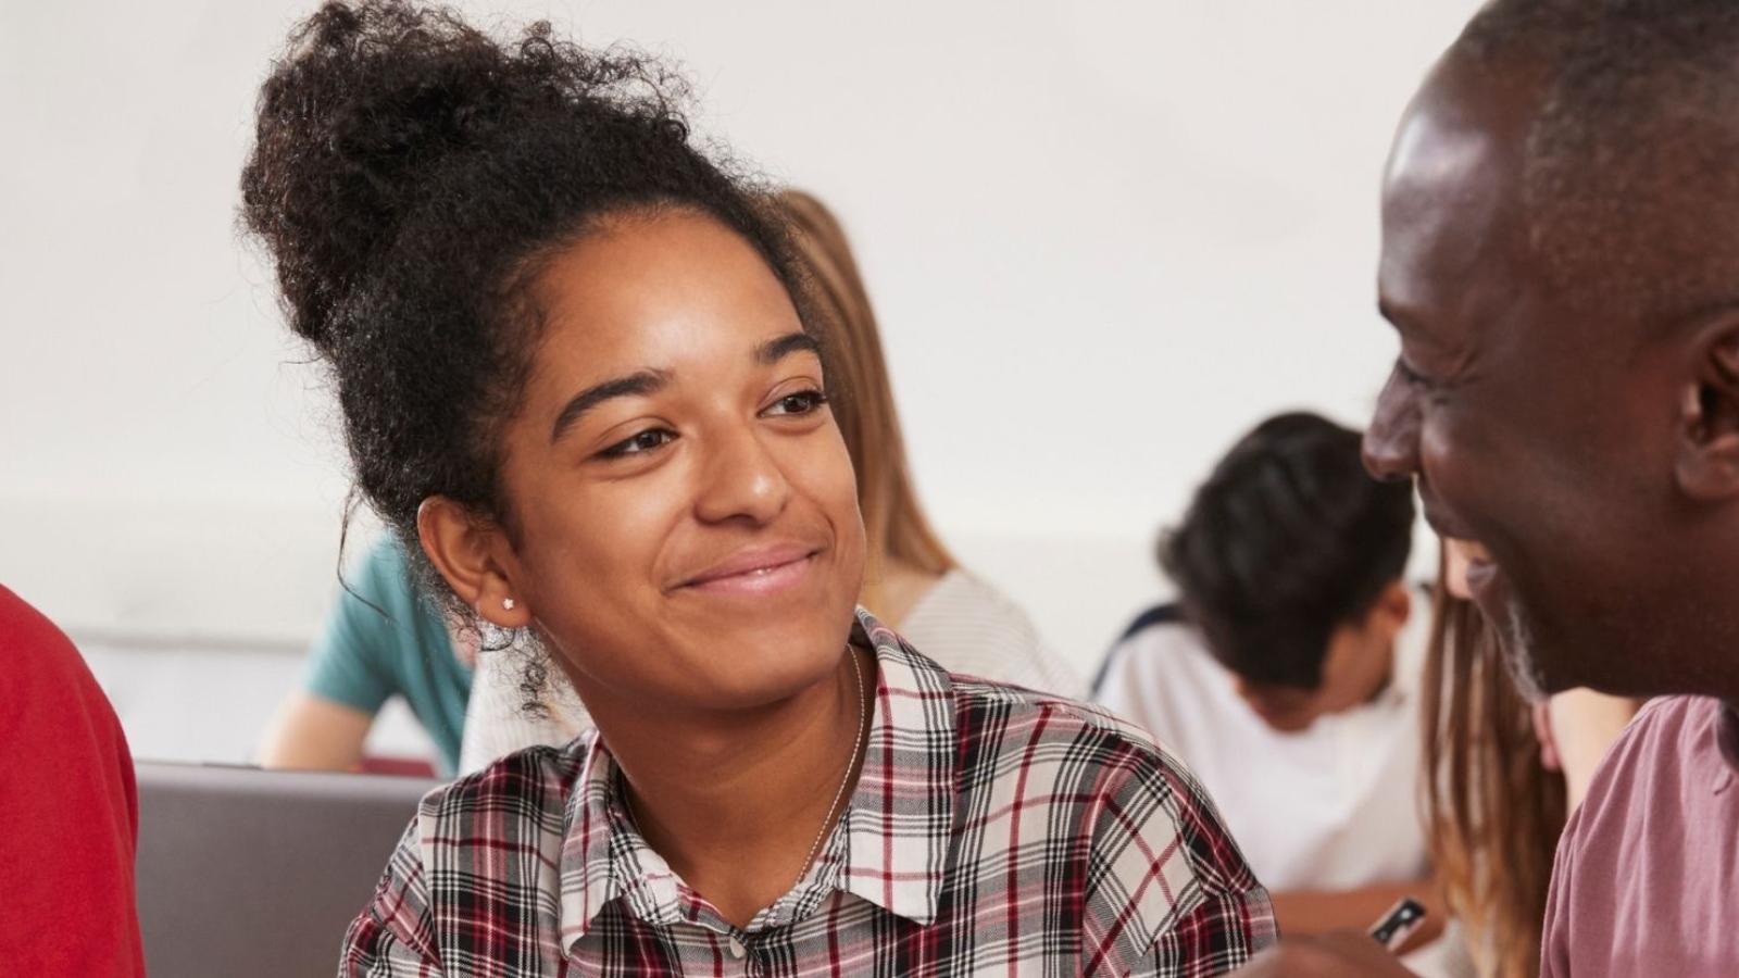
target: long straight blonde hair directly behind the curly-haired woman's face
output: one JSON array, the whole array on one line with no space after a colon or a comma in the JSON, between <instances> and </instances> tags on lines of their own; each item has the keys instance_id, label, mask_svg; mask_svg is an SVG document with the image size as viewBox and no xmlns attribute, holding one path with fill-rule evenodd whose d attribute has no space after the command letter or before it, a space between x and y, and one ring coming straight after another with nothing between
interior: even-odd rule
<instances>
[{"instance_id":1,"label":"long straight blonde hair directly behind the curly-haired woman's face","mask_svg":"<svg viewBox=\"0 0 1739 978\"><path fill-rule=\"evenodd\" d=\"M786 190L776 202L790 221L809 273L812 311L826 331L823 343L835 371L830 386L840 393L833 400L833 418L857 470L857 506L870 543L863 602L876 609L882 571L890 560L929 574L946 574L958 562L930 527L911 486L882 334L845 230L823 202L802 190Z\"/></svg>"}]
</instances>

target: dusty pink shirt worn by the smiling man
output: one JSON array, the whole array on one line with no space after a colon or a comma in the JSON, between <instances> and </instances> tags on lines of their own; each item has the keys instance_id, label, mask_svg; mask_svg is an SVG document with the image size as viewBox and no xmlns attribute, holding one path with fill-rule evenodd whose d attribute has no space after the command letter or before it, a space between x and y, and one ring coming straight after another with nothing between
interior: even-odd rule
<instances>
[{"instance_id":1,"label":"dusty pink shirt worn by the smiling man","mask_svg":"<svg viewBox=\"0 0 1739 978\"><path fill-rule=\"evenodd\" d=\"M1739 717L1649 703L1558 842L1541 978L1739 975Z\"/></svg>"}]
</instances>

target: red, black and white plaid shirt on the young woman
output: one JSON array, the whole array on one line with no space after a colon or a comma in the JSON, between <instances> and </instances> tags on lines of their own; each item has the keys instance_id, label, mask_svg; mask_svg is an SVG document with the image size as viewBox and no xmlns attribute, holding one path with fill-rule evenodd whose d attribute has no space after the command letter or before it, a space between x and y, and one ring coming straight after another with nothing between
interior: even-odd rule
<instances>
[{"instance_id":1,"label":"red, black and white plaid shirt on the young woman","mask_svg":"<svg viewBox=\"0 0 1739 978\"><path fill-rule=\"evenodd\" d=\"M1195 978L1275 940L1214 804L1144 733L949 675L857 620L880 667L863 774L809 874L748 928L635 832L586 734L431 792L341 973Z\"/></svg>"}]
</instances>

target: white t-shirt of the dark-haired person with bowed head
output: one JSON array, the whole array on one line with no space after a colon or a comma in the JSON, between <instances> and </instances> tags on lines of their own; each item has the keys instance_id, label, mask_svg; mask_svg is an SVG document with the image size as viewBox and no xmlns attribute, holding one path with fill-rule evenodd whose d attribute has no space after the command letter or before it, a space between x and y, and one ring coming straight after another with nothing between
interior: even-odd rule
<instances>
[{"instance_id":1,"label":"white t-shirt of the dark-haired person with bowed head","mask_svg":"<svg viewBox=\"0 0 1739 978\"><path fill-rule=\"evenodd\" d=\"M1268 889L1419 879L1419 680L1431 618L1421 604L1396 635L1388 689L1296 734L1264 724L1176 618L1111 649L1097 700L1196 773Z\"/></svg>"}]
</instances>

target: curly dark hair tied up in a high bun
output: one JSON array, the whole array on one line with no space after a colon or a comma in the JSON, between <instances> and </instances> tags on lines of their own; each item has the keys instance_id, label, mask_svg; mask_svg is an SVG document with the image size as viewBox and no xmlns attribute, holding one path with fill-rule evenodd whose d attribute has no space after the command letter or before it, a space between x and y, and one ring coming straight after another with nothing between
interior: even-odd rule
<instances>
[{"instance_id":1,"label":"curly dark hair tied up in a high bun","mask_svg":"<svg viewBox=\"0 0 1739 978\"><path fill-rule=\"evenodd\" d=\"M765 190L696 146L687 97L659 63L581 49L548 23L503 44L400 0L323 5L266 78L242 219L275 259L290 329L336 379L356 491L426 583L423 499L515 533L499 432L539 339L530 285L600 221L708 214L805 313ZM426 590L475 623L449 588Z\"/></svg>"}]
</instances>

